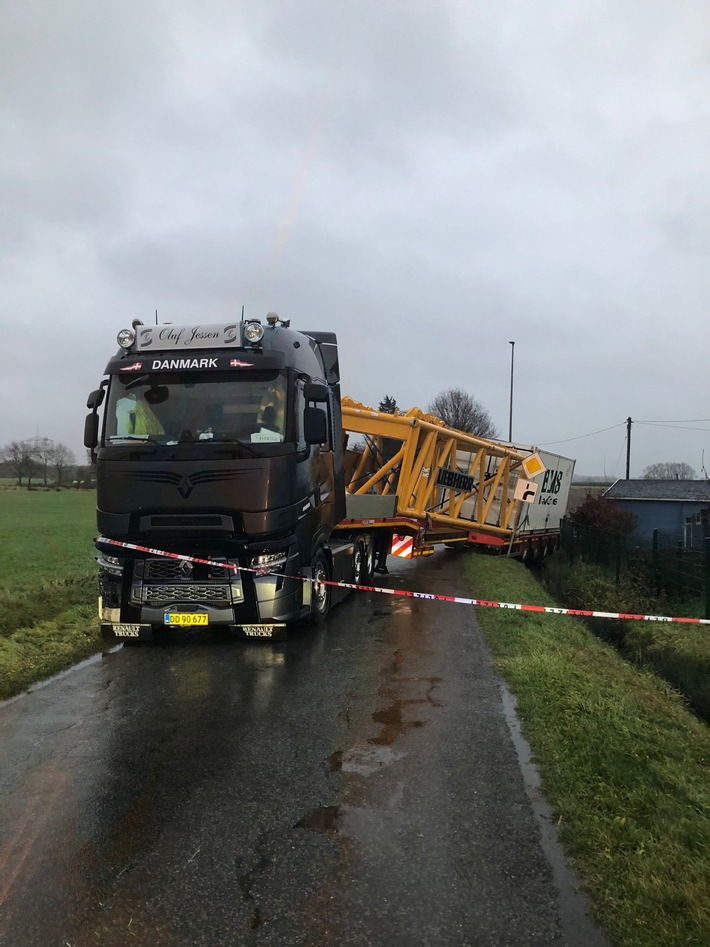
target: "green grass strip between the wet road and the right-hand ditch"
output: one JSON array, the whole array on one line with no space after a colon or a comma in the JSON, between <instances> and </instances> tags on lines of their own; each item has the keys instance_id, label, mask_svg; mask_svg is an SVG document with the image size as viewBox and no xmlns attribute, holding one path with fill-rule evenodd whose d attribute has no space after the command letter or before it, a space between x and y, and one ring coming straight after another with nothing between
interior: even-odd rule
<instances>
[{"instance_id":1,"label":"green grass strip between the wet road and the right-hand ditch","mask_svg":"<svg viewBox=\"0 0 710 947\"><path fill-rule=\"evenodd\" d=\"M467 559L487 598L553 605L523 566ZM478 609L560 821L619 947L710 943L710 731L568 616Z\"/></svg>"}]
</instances>

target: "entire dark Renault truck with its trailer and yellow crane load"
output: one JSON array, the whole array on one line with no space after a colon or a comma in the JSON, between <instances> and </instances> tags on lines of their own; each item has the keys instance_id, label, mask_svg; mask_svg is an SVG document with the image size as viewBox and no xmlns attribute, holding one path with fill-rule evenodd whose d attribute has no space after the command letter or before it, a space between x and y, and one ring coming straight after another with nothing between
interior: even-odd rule
<instances>
[{"instance_id":1,"label":"entire dark Renault truck with its trailer and yellow crane load","mask_svg":"<svg viewBox=\"0 0 710 947\"><path fill-rule=\"evenodd\" d=\"M107 642L205 626L283 638L368 587L393 549L525 558L557 541L572 461L553 468L416 408L389 415L341 397L332 332L269 313L265 324L135 320L117 341L84 428ZM542 518L515 498L531 458L539 478L556 471Z\"/></svg>"}]
</instances>

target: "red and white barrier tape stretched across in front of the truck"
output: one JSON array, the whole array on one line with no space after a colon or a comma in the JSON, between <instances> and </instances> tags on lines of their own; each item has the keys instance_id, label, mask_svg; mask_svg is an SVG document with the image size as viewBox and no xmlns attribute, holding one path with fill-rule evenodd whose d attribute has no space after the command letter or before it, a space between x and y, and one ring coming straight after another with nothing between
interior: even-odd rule
<instances>
[{"instance_id":1,"label":"red and white barrier tape stretched across in front of the truck","mask_svg":"<svg viewBox=\"0 0 710 947\"><path fill-rule=\"evenodd\" d=\"M214 559L200 559L197 556L183 556L177 552L166 552L164 549L151 549L148 546L138 546L135 543L124 543L118 539L100 537L100 542L122 549L133 549L136 552L147 552L153 556L165 556L167 559L179 559L182 562L199 562L206 566L215 566L219 569L230 569L232 572L253 572L255 575L278 575L284 578L296 579L299 582L313 582L303 576L283 576L281 572L269 572L264 569L248 569L232 562L216 562ZM437 595L430 592L409 592L406 589L385 589L375 585L355 585L353 582L333 582L322 580L323 585L332 585L341 589L355 589L360 592L380 592L383 595L404 595L407 598L423 598L432 602L453 602L456 605L479 605L483 608L510 608L519 612L544 612L548 615L573 615L575 618L618 618L623 621L659 621L678 622L684 625L710 625L710 618L678 618L668 615L634 615L626 612L597 612L586 608L553 608L549 605L521 605L513 602L489 602L481 598L460 598L456 595Z\"/></svg>"}]
</instances>

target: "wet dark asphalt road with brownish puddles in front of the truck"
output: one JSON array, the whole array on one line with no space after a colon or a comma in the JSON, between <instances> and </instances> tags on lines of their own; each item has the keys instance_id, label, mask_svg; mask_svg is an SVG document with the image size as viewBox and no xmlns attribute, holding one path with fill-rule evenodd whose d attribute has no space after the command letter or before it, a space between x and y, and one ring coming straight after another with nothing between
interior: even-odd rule
<instances>
[{"instance_id":1,"label":"wet dark asphalt road with brownish puddles in front of the truck","mask_svg":"<svg viewBox=\"0 0 710 947\"><path fill-rule=\"evenodd\" d=\"M602 947L505 697L470 608L373 593L88 663L0 707L0 945Z\"/></svg>"}]
</instances>

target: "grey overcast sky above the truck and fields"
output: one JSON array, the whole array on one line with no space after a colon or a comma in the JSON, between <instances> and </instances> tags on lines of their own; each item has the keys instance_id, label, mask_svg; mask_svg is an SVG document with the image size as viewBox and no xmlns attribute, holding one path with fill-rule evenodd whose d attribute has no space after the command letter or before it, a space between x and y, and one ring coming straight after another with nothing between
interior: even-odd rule
<instances>
[{"instance_id":1,"label":"grey overcast sky above the truck and fields","mask_svg":"<svg viewBox=\"0 0 710 947\"><path fill-rule=\"evenodd\" d=\"M700 473L709 121L707 0L0 0L0 446L244 306L504 437L514 341L515 440Z\"/></svg>"}]
</instances>

